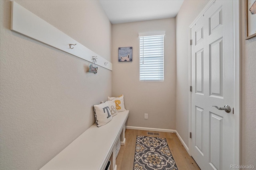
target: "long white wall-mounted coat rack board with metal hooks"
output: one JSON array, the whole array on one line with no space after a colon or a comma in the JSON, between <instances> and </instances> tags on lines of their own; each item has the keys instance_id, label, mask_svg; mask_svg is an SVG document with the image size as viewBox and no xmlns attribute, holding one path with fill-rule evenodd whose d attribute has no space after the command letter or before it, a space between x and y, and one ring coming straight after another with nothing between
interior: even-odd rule
<instances>
[{"instance_id":1,"label":"long white wall-mounted coat rack board with metal hooks","mask_svg":"<svg viewBox=\"0 0 256 170\"><path fill-rule=\"evenodd\" d=\"M112 70L112 63L14 1L12 1L11 30L89 62L92 61L92 56L97 56L97 65Z\"/></svg>"}]
</instances>

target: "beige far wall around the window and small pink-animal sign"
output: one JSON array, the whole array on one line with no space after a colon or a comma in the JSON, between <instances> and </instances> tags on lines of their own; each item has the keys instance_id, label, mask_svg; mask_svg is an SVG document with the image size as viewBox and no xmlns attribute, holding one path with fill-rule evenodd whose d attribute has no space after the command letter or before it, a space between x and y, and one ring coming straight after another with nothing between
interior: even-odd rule
<instances>
[{"instance_id":1,"label":"beige far wall around the window and small pink-animal sign","mask_svg":"<svg viewBox=\"0 0 256 170\"><path fill-rule=\"evenodd\" d=\"M164 82L140 82L138 33L154 31L166 31ZM133 47L132 62L118 62L118 47ZM175 129L175 47L175 18L112 25L112 96L124 94L128 126Z\"/></svg>"}]
</instances>

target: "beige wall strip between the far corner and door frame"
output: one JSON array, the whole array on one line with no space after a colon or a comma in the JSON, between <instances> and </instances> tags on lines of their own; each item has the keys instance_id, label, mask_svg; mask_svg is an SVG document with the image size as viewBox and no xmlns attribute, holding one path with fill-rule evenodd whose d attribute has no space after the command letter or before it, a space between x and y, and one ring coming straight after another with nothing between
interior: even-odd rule
<instances>
[{"instance_id":1,"label":"beige wall strip between the far corner and door frame","mask_svg":"<svg viewBox=\"0 0 256 170\"><path fill-rule=\"evenodd\" d=\"M176 130L188 146L189 39L188 27L208 0L185 0L176 16Z\"/></svg>"}]
</instances>

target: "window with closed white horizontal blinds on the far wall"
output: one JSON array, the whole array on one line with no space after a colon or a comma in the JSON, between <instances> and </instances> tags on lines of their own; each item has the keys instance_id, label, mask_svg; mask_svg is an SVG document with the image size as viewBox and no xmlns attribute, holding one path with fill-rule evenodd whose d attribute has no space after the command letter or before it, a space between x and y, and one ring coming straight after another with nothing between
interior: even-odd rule
<instances>
[{"instance_id":1,"label":"window with closed white horizontal blinds on the far wall","mask_svg":"<svg viewBox=\"0 0 256 170\"><path fill-rule=\"evenodd\" d=\"M140 81L164 81L164 35L139 34Z\"/></svg>"}]
</instances>

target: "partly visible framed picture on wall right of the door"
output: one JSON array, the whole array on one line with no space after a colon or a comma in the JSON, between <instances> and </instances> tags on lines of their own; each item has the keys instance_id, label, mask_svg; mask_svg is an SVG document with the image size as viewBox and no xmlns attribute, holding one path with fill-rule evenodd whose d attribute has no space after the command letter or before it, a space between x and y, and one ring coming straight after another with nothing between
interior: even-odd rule
<instances>
[{"instance_id":1,"label":"partly visible framed picture on wall right of the door","mask_svg":"<svg viewBox=\"0 0 256 170\"><path fill-rule=\"evenodd\" d=\"M256 36L256 0L245 0L245 39Z\"/></svg>"}]
</instances>

